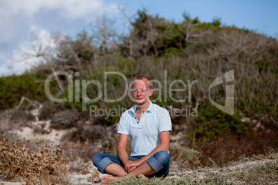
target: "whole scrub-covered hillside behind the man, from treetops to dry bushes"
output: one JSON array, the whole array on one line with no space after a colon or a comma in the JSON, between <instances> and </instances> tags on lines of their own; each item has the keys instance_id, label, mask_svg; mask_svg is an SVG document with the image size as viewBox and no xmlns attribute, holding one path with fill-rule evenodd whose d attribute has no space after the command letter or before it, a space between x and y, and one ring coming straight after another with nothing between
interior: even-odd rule
<instances>
[{"instance_id":1,"label":"whole scrub-covered hillside behind the man, from treetops to dry bushes","mask_svg":"<svg viewBox=\"0 0 278 185\"><path fill-rule=\"evenodd\" d=\"M205 179L196 179L195 173L184 178L180 172L179 179L164 182L150 179L149 184L275 183L277 39L251 30L221 26L219 19L202 23L186 13L180 23L147 14L145 10L138 11L134 19L125 17L129 28L124 34L119 20L103 17L75 37L55 35L49 43L33 38L34 50L26 57L35 58L41 64L23 75L0 78L0 142L3 144L0 179L69 183L66 173L88 174L89 164L84 163L91 161L95 153L116 154L116 123L121 111L134 104L126 83L143 74L154 80L151 101L169 110L172 117L169 153L173 176L178 169L225 168L244 157L251 160L254 156L270 156L275 160L274 164L244 168L242 173L227 170L225 174L212 175L207 172ZM225 72L231 70L234 70L234 80L225 81ZM62 73L50 79L49 93L53 98L67 98L67 101L55 102L46 94L46 79L54 72ZM220 76L223 83L210 90L210 84ZM93 83L87 85L88 81ZM224 106L226 87L231 85L234 85L234 114L229 115L212 105L210 99ZM126 91L127 95L122 97ZM120 101L106 101L121 97ZM90 115L92 106L95 113L100 109L102 112ZM175 114L178 110L185 112ZM32 130L29 134L32 137L59 136L60 146L10 141L16 140L14 134L23 134L24 129ZM63 131L66 134L62 136ZM130 153L130 148L127 150ZM26 156L22 158L23 155ZM43 173L38 166L44 169ZM256 176L253 173L259 179L253 181ZM97 171L90 180L96 177ZM143 179L122 183L137 182L146 183Z\"/></svg>"}]
</instances>

